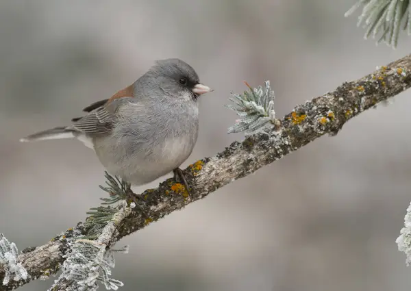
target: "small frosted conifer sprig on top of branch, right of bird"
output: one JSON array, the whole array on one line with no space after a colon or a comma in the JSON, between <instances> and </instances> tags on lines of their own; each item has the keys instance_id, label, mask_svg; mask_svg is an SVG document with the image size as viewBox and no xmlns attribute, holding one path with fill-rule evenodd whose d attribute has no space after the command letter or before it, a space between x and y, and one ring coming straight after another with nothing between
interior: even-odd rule
<instances>
[{"instance_id":1,"label":"small frosted conifer sprig on top of branch, right of bird","mask_svg":"<svg viewBox=\"0 0 411 291\"><path fill-rule=\"evenodd\" d=\"M256 131L270 122L275 124L274 91L271 90L270 81L265 81L264 88L251 88L247 82L245 84L249 90L242 94L232 93L229 100L234 105L225 105L240 116L240 120L229 127L228 134Z\"/></svg>"}]
</instances>

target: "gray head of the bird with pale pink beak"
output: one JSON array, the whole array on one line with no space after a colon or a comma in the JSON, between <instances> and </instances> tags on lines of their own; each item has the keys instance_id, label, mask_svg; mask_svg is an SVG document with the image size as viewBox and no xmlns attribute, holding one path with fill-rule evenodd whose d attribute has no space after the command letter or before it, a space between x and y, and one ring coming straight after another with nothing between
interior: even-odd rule
<instances>
[{"instance_id":1,"label":"gray head of the bird with pale pink beak","mask_svg":"<svg viewBox=\"0 0 411 291\"><path fill-rule=\"evenodd\" d=\"M152 90L183 101L197 100L199 95L212 91L200 83L194 68L179 59L155 62L145 74L145 79L151 83Z\"/></svg>"}]
</instances>

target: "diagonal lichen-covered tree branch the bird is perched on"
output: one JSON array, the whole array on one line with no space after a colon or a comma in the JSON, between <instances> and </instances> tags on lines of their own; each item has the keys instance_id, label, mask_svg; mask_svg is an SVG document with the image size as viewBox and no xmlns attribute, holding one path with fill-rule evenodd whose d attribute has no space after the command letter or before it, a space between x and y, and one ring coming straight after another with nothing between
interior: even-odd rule
<instances>
[{"instance_id":1,"label":"diagonal lichen-covered tree branch the bird is perched on","mask_svg":"<svg viewBox=\"0 0 411 291\"><path fill-rule=\"evenodd\" d=\"M233 142L214 157L204 158L186 168L192 198L184 186L167 179L156 189L145 190L142 212L135 207L123 218L113 242L120 240L149 223L158 220L189 203L202 199L211 192L245 177L262 166L270 164L303 147L325 134L334 136L349 119L364 110L386 101L411 86L411 55L382 66L374 73L356 81L346 82L333 92L297 105L275 126L265 127L249 135L242 142ZM51 242L29 249L18 256L30 277L25 281L12 281L0 285L0 290L12 290L41 276L57 272L68 251L69 238L74 232L85 233L84 223L69 229ZM0 281L5 276L5 266L0 266Z\"/></svg>"}]
</instances>

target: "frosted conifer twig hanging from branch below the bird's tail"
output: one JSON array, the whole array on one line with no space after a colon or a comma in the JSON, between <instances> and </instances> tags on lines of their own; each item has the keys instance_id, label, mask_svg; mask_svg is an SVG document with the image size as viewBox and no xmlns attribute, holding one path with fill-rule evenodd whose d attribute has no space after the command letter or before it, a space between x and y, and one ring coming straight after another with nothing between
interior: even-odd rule
<instances>
[{"instance_id":1,"label":"frosted conifer twig hanging from branch below the bird's tail","mask_svg":"<svg viewBox=\"0 0 411 291\"><path fill-rule=\"evenodd\" d=\"M116 226L127 217L135 203L128 205L125 201L131 186L120 179L113 178L105 172L107 187L100 186L110 193L110 199L102 199L105 204L122 201L116 206L100 206L91 208L84 223L86 236L77 236L69 242L69 254L62 266L62 275L55 281L49 291L95 291L98 282L103 283L106 290L118 290L123 282L112 279L111 268L114 268L114 252L127 253L128 247L114 250ZM104 203L103 203L104 204Z\"/></svg>"}]
</instances>

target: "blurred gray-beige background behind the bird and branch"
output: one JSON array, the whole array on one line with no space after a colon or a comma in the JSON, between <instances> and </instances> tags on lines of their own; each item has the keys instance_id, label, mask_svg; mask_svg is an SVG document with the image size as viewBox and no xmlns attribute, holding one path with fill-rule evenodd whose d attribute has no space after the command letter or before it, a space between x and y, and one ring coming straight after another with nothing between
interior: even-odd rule
<instances>
[{"instance_id":1,"label":"blurred gray-beige background behind the bird and branch","mask_svg":"<svg viewBox=\"0 0 411 291\"><path fill-rule=\"evenodd\" d=\"M270 79L277 116L409 53L363 39L354 0L0 1L0 232L18 249L84 220L103 167L77 140L21 144L182 58L214 88L186 165L241 134L230 92ZM411 91L121 242L122 290L410 290ZM407 96L408 95L408 96ZM159 180L159 181L162 181ZM159 181L136 188L155 187ZM21 290L46 290L52 280Z\"/></svg>"}]
</instances>

